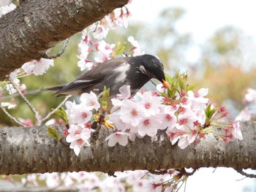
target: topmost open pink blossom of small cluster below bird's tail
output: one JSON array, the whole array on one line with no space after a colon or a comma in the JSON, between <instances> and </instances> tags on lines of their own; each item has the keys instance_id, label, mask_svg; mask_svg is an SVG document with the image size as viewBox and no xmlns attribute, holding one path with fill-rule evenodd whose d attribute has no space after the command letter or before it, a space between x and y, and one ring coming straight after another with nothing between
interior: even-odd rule
<instances>
[{"instance_id":1,"label":"topmost open pink blossom of small cluster below bird's tail","mask_svg":"<svg viewBox=\"0 0 256 192\"><path fill-rule=\"evenodd\" d=\"M99 110L100 104L97 95L92 91L90 93L83 93L80 96L80 101L86 110Z\"/></svg>"}]
</instances>

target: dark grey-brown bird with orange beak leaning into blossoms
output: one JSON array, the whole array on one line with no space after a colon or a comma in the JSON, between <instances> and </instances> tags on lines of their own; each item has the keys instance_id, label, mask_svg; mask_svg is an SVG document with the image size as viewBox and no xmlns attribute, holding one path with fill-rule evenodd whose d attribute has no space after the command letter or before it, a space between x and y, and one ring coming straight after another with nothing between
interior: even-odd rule
<instances>
[{"instance_id":1,"label":"dark grey-brown bird with orange beak leaning into blossoms","mask_svg":"<svg viewBox=\"0 0 256 192\"><path fill-rule=\"evenodd\" d=\"M164 66L156 56L145 54L118 57L95 66L72 82L44 88L43 91L56 91L54 93L56 96L80 96L90 91L102 93L106 87L110 88L110 99L112 99L123 85L129 85L131 96L134 96L152 78L159 80L167 88Z\"/></svg>"}]
</instances>

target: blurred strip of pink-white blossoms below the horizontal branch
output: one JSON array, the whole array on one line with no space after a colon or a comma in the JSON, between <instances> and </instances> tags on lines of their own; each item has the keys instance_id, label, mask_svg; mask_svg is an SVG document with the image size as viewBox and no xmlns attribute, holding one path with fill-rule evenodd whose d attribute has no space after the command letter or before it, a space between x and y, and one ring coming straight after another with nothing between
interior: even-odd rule
<instances>
[{"instance_id":1,"label":"blurred strip of pink-white blossoms below the horizontal branch","mask_svg":"<svg viewBox=\"0 0 256 192\"><path fill-rule=\"evenodd\" d=\"M145 170L115 172L116 177L97 172L53 172L29 174L21 182L38 187L40 181L45 180L49 188L75 185L78 191L176 191L180 183L173 178L178 174L174 169L165 170L160 175Z\"/></svg>"}]
</instances>

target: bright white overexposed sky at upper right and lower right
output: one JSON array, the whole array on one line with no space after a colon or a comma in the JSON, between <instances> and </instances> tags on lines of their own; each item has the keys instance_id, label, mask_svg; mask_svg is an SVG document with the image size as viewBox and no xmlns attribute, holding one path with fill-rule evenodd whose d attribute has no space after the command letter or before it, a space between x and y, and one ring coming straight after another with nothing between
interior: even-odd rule
<instances>
[{"instance_id":1,"label":"bright white overexposed sky at upper right and lower right","mask_svg":"<svg viewBox=\"0 0 256 192\"><path fill-rule=\"evenodd\" d=\"M256 1L254 0L133 0L129 22L143 21L154 25L154 20L162 9L181 7L185 9L184 18L178 21L176 28L181 33L189 32L196 45L203 44L218 28L235 26L244 34L256 39ZM252 41L252 46L256 41ZM256 61L256 49L251 49L249 60ZM193 59L193 58L192 58ZM181 190L183 191L183 190ZM233 169L203 168L187 182L187 192L255 192L256 179L246 178Z\"/></svg>"}]
</instances>

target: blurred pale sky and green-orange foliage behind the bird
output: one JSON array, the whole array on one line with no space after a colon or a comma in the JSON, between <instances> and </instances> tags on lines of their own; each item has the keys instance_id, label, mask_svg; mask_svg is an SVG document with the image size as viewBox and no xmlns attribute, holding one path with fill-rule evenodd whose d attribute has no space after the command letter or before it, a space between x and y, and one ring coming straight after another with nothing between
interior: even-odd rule
<instances>
[{"instance_id":1,"label":"blurred pale sky and green-orange foliage behind the bird","mask_svg":"<svg viewBox=\"0 0 256 192\"><path fill-rule=\"evenodd\" d=\"M107 41L127 42L127 37L135 37L141 50L157 55L169 74L187 72L189 82L198 83L197 88L209 88L208 98L236 117L244 107L246 89L256 88L256 2L133 0L130 7L128 28L110 31ZM81 73L77 66L80 38L80 33L71 37L65 53L46 74L23 77L27 90L74 80ZM45 115L62 101L47 92L28 98ZM10 111L12 115L26 119L31 114L34 118L22 101L18 107ZM0 116L1 126L12 126L10 119ZM187 191L256 191L255 179L244 179L232 169L213 172L200 169L189 179Z\"/></svg>"}]
</instances>

